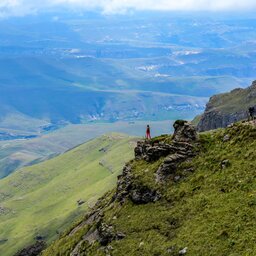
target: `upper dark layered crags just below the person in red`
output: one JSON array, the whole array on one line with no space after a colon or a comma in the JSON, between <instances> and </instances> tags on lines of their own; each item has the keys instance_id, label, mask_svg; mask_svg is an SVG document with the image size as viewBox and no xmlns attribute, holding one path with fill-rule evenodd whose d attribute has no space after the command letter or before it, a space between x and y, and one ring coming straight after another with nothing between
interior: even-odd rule
<instances>
[{"instance_id":1,"label":"upper dark layered crags just below the person in red","mask_svg":"<svg viewBox=\"0 0 256 256\"><path fill-rule=\"evenodd\" d=\"M172 177L178 180L176 175L180 163L187 161L196 155L196 142L198 135L196 128L189 122L178 120L174 123L174 134L168 143L161 141L138 141L135 148L135 159L148 162L165 158L163 164L156 172L156 181L162 182ZM135 204L147 204L156 202L161 198L159 191L134 182L132 167L127 164L122 175L118 176L115 200L121 204L129 198Z\"/></svg>"}]
</instances>

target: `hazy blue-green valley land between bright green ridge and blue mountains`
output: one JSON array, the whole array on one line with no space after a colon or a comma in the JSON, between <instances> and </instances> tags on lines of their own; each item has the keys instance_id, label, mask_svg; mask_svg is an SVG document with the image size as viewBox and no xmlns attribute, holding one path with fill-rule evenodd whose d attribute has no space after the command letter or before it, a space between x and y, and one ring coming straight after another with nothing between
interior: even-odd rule
<instances>
[{"instance_id":1,"label":"hazy blue-green valley land between bright green ridge and blue mountains","mask_svg":"<svg viewBox=\"0 0 256 256\"><path fill-rule=\"evenodd\" d=\"M115 131L132 136L141 136L144 134L148 122L67 125L35 139L0 141L0 178L24 165L46 160L105 133ZM150 121L149 123L153 135L159 135L170 132L172 121Z\"/></svg>"}]
</instances>

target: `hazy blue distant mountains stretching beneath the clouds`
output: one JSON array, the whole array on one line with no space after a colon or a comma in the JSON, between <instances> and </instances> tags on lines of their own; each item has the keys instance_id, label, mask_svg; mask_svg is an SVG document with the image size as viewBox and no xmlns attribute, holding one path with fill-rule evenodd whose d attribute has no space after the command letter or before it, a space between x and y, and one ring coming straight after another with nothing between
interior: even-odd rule
<instances>
[{"instance_id":1,"label":"hazy blue distant mountains stretching beneath the clouds","mask_svg":"<svg viewBox=\"0 0 256 256\"><path fill-rule=\"evenodd\" d=\"M255 74L249 17L55 11L0 20L0 127L192 118Z\"/></svg>"}]
</instances>

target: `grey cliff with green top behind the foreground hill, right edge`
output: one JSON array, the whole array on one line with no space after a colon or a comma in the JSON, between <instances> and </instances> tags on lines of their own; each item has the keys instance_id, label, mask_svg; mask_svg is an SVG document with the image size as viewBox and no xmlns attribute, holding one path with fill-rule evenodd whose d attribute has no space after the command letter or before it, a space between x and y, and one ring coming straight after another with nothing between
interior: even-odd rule
<instances>
[{"instance_id":1,"label":"grey cliff with green top behind the foreground hill, right edge","mask_svg":"<svg viewBox=\"0 0 256 256\"><path fill-rule=\"evenodd\" d=\"M211 97L197 128L207 131L247 119L250 106L256 107L256 81L246 89L235 89Z\"/></svg>"}]
</instances>

